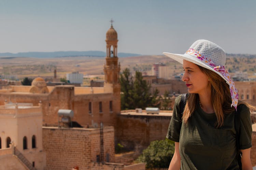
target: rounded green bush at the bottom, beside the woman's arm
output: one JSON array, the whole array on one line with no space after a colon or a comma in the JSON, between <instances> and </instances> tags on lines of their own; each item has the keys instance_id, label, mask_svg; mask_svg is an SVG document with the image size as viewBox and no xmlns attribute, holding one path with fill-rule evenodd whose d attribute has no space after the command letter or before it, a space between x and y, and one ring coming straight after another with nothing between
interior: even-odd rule
<instances>
[{"instance_id":1,"label":"rounded green bush at the bottom, beside the woman's arm","mask_svg":"<svg viewBox=\"0 0 256 170\"><path fill-rule=\"evenodd\" d=\"M174 142L165 140L155 140L143 150L138 162L146 163L146 168L168 168L174 153Z\"/></svg>"}]
</instances>

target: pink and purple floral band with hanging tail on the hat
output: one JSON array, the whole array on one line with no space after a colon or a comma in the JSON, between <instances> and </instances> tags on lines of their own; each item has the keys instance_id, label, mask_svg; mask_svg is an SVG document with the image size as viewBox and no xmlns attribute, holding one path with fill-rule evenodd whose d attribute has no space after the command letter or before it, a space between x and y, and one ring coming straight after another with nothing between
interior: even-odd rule
<instances>
[{"instance_id":1,"label":"pink and purple floral band with hanging tail on the hat","mask_svg":"<svg viewBox=\"0 0 256 170\"><path fill-rule=\"evenodd\" d=\"M196 51L192 48L189 48L186 51L186 54L197 57L199 60L201 60L202 62L209 65L211 68L213 68L216 72L219 72L226 79L226 82L229 85L230 95L231 95L231 98L232 98L231 107L234 106L234 108L236 108L236 110L237 110L238 92L237 92L237 89L234 86L234 82L230 78L228 70L226 70L224 66L216 66L210 58L199 54L198 51Z\"/></svg>"}]
</instances>

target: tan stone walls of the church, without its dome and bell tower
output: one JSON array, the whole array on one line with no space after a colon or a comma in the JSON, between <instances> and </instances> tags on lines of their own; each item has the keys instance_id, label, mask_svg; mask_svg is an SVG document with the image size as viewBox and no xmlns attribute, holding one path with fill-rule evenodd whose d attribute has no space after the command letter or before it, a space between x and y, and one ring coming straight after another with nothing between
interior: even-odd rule
<instances>
[{"instance_id":1,"label":"tan stone walls of the church, without its dome and bell tower","mask_svg":"<svg viewBox=\"0 0 256 170\"><path fill-rule=\"evenodd\" d=\"M22 88L15 86L13 88ZM30 86L28 86L30 87ZM24 87L26 88L26 87ZM0 105L7 102L32 103L37 106L41 101L43 124L58 124L58 110L71 109L74 111L73 121L81 125L91 125L92 121L96 123L103 122L104 125L115 125L115 116L120 113L120 92L119 96L113 93L103 92L103 88L94 87L95 94L75 95L75 89L80 92L88 91L91 88L74 86L55 86L48 94L33 94L23 92L0 92ZM112 111L110 111L110 101L112 101ZM91 102L92 113L89 113L89 102ZM102 112L99 112L99 102L102 103Z\"/></svg>"}]
</instances>

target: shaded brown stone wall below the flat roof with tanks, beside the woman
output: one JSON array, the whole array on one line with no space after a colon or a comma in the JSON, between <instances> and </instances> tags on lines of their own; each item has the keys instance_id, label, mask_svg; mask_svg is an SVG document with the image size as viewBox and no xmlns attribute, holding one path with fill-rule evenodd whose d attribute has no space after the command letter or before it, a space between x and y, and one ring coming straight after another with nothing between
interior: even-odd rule
<instances>
[{"instance_id":1,"label":"shaded brown stone wall below the flat roof with tanks, beside the woman","mask_svg":"<svg viewBox=\"0 0 256 170\"><path fill-rule=\"evenodd\" d=\"M165 139L170 120L171 116L118 115L117 142L148 146L151 141Z\"/></svg>"}]
</instances>

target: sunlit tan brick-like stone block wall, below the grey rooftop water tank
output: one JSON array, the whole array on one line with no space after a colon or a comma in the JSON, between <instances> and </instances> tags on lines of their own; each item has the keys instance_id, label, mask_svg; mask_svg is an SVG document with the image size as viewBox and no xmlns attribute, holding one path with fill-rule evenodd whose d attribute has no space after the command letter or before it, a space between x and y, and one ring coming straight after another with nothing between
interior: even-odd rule
<instances>
[{"instance_id":1,"label":"sunlit tan brick-like stone block wall, below the grey rooftop water tank","mask_svg":"<svg viewBox=\"0 0 256 170\"><path fill-rule=\"evenodd\" d=\"M114 162L114 128L104 127L104 161ZM46 152L46 169L70 170L74 166L90 169L100 155L100 129L57 128L43 126L43 150Z\"/></svg>"}]
</instances>

